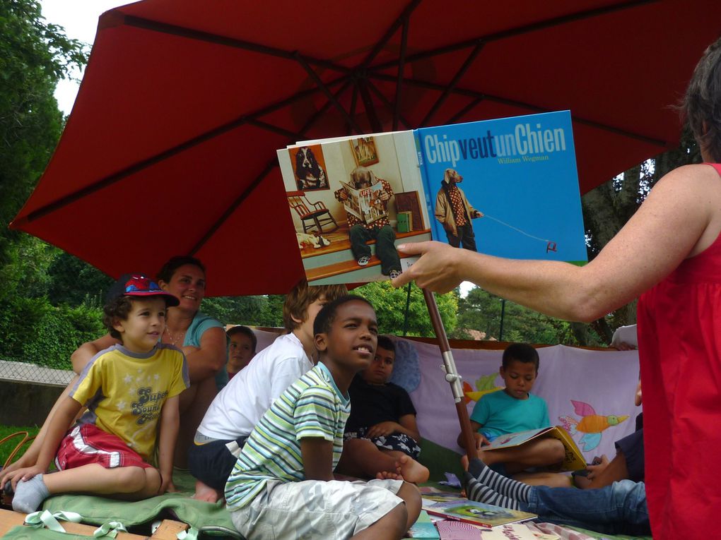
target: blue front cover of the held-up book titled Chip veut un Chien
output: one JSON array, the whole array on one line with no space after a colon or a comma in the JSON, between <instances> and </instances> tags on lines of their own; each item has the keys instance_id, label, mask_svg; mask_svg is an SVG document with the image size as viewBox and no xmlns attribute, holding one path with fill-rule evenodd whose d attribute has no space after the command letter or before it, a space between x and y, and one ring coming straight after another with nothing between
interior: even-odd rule
<instances>
[{"instance_id":1,"label":"blue front cover of the held-up book titled Chip veut un Chien","mask_svg":"<svg viewBox=\"0 0 721 540\"><path fill-rule=\"evenodd\" d=\"M427 127L414 139L434 240L587 260L570 112Z\"/></svg>"}]
</instances>

